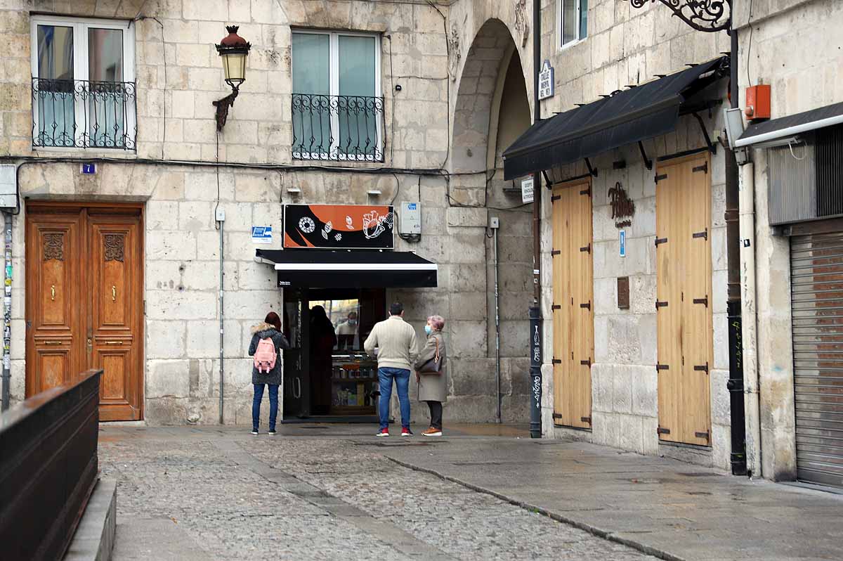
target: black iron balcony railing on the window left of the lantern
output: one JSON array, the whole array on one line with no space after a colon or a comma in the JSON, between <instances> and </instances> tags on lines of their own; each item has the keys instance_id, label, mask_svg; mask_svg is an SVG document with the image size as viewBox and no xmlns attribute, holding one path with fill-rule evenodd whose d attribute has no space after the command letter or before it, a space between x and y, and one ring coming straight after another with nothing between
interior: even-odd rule
<instances>
[{"instance_id":1,"label":"black iron balcony railing on the window left of the lantern","mask_svg":"<svg viewBox=\"0 0 843 561\"><path fill-rule=\"evenodd\" d=\"M135 149L134 82L32 78L32 145Z\"/></svg>"}]
</instances>

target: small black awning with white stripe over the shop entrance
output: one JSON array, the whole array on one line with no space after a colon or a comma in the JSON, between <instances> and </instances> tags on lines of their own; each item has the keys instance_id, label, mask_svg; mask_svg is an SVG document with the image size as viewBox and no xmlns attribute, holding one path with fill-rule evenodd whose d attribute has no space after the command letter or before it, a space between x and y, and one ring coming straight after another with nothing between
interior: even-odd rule
<instances>
[{"instance_id":1,"label":"small black awning with white stripe over the shop entrance","mask_svg":"<svg viewBox=\"0 0 843 561\"><path fill-rule=\"evenodd\" d=\"M256 250L278 272L278 286L314 289L435 287L437 265L409 251Z\"/></svg>"}]
</instances>

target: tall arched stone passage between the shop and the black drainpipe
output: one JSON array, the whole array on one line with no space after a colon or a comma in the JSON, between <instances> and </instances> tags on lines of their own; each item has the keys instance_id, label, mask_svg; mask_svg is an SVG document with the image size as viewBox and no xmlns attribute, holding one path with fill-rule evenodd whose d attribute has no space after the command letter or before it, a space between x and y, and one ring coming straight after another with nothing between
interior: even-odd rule
<instances>
[{"instance_id":1,"label":"tall arched stone passage between the shop and the black drainpipe","mask_svg":"<svg viewBox=\"0 0 843 561\"><path fill-rule=\"evenodd\" d=\"M477 297L486 300L486 351L481 361L466 363L460 357L454 361L454 401L483 403L486 408L481 416L494 418L497 406L494 400L490 403L483 396L472 402L462 396L465 392L497 393L490 383L494 381L496 367L493 289L496 256L491 230L477 228L485 225L488 214L500 218L497 309L501 328L501 411L505 422L524 422L529 418L529 324L526 317L532 294L532 254L524 248L532 243L532 213L529 205L521 204L520 191L503 191L504 186L512 184L503 181L501 154L529 128L529 107L528 86L513 33L501 19L486 19L464 55L459 73L449 160L449 171L454 174L449 182L450 204L477 209L453 209L453 220L448 224L449 231L456 233L458 225L468 222L465 224L468 228L459 229L459 236L472 248L480 247L484 251L486 278L474 277L472 293L452 293L450 305L453 313L464 310L467 303L476 302ZM483 212L479 212L481 210ZM469 222L469 217L475 222ZM467 251L468 247L464 249ZM452 278L461 278L476 275L478 271L463 264L452 264L450 272ZM486 370L482 370L484 366ZM458 381L458 376L471 380L471 384ZM452 409L456 410L456 407Z\"/></svg>"}]
</instances>

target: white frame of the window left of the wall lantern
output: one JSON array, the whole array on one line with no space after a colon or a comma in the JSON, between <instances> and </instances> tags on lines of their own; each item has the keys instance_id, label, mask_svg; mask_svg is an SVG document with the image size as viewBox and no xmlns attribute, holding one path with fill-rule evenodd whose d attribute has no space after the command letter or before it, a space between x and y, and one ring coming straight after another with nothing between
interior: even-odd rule
<instances>
[{"instance_id":1,"label":"white frame of the window left of the wall lantern","mask_svg":"<svg viewBox=\"0 0 843 561\"><path fill-rule=\"evenodd\" d=\"M60 27L70 27L73 30L73 81L89 80L88 67L88 30L95 28L98 30L121 30L123 32L123 82L135 82L135 26L131 21L123 21L118 19L94 19L94 18L69 18L65 16L46 16L34 15L30 18L30 62L32 65L32 78L40 78L38 75L38 26L39 25L54 25ZM74 104L74 119L77 123L84 121L84 100L77 100ZM35 132L40 130L38 127L38 109L35 107L35 100L33 100L32 122L33 122L33 136ZM133 100L126 100L124 105L126 111L126 135L137 139L137 83L135 84L135 98ZM78 127L76 131L76 138L74 138L75 146L38 146L38 150L72 150L84 148L102 148L109 150L111 148L103 148L94 143L88 142L88 131L83 127ZM35 142L35 138L33 138ZM79 147L83 148L79 148ZM137 149L137 140L135 148L125 148L126 151L134 151Z\"/></svg>"}]
</instances>

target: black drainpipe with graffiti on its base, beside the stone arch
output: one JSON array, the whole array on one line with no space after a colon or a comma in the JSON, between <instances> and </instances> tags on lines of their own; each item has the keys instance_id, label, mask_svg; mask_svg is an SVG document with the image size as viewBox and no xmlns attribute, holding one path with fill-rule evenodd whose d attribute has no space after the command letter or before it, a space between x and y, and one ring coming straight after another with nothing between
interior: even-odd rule
<instances>
[{"instance_id":1,"label":"black drainpipe with graffiti on its base, beside the stone arch","mask_svg":"<svg viewBox=\"0 0 843 561\"><path fill-rule=\"evenodd\" d=\"M541 3L533 0L533 115L541 121L539 68L541 67ZM541 176L533 174L533 305L529 308L530 329L530 438L541 438Z\"/></svg>"}]
</instances>

